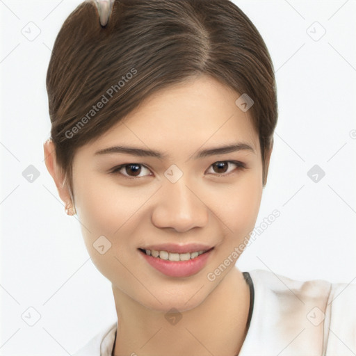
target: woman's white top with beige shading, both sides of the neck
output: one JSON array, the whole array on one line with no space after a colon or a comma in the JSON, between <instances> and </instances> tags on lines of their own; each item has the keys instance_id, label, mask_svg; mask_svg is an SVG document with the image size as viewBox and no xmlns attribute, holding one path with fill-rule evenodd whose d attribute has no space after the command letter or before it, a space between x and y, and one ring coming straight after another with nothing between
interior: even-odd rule
<instances>
[{"instance_id":1,"label":"woman's white top with beige shading, both sides of the neck","mask_svg":"<svg viewBox=\"0 0 356 356\"><path fill-rule=\"evenodd\" d=\"M249 273L253 312L238 356L356 355L356 284ZM116 327L108 325L73 356L111 356Z\"/></svg>"}]
</instances>

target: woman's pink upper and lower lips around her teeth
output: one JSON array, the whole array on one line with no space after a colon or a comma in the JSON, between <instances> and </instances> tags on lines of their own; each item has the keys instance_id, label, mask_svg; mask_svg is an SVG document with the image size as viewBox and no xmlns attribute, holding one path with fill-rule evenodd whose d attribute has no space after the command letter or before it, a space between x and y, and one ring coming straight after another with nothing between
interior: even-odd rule
<instances>
[{"instance_id":1,"label":"woman's pink upper and lower lips around her teeth","mask_svg":"<svg viewBox=\"0 0 356 356\"><path fill-rule=\"evenodd\" d=\"M145 250L157 250L157 251L169 251L175 253L186 253L186 252L195 252L208 250L200 254L198 257L194 259L189 259L188 261L169 261L160 259L157 257L152 257L145 252L140 251L140 254L143 255L143 258L156 270L163 273L164 275L168 275L170 277L188 277L190 275L195 275L198 273L204 266L207 264L207 260L209 256L213 252L213 248L209 248L205 245L156 245L150 246L149 248L145 248Z\"/></svg>"}]
</instances>

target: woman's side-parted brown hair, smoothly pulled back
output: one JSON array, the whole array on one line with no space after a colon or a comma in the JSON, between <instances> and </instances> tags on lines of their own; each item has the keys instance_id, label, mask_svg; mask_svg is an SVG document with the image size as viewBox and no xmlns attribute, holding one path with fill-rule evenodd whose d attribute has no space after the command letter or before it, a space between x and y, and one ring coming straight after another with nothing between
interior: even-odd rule
<instances>
[{"instance_id":1,"label":"woman's side-parted brown hair, smoothly pulled back","mask_svg":"<svg viewBox=\"0 0 356 356\"><path fill-rule=\"evenodd\" d=\"M81 3L60 29L47 71L51 140L71 193L77 148L149 95L200 74L253 99L248 114L259 133L265 184L277 124L273 63L232 1L115 0L105 27L95 3Z\"/></svg>"}]
</instances>

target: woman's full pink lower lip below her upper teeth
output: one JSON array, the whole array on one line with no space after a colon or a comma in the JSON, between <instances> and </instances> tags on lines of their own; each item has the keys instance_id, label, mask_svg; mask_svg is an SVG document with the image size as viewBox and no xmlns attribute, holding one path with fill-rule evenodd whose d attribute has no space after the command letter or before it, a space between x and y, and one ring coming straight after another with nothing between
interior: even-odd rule
<instances>
[{"instance_id":1,"label":"woman's full pink lower lip below her upper teeth","mask_svg":"<svg viewBox=\"0 0 356 356\"><path fill-rule=\"evenodd\" d=\"M139 250L140 251L140 250ZM168 275L170 277L189 277L190 275L195 275L207 264L207 260L213 249L209 252L200 254L195 259L189 259L188 261L169 261L166 259L160 259L157 257L149 256L145 252L140 251L146 261L156 270Z\"/></svg>"}]
</instances>

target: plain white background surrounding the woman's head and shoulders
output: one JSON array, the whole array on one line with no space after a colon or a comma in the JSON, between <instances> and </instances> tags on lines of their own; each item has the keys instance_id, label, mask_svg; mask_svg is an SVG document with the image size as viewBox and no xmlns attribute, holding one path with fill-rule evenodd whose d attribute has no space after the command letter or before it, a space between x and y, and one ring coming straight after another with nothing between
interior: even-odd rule
<instances>
[{"instance_id":1,"label":"plain white background surrounding the woman's head and shoulders","mask_svg":"<svg viewBox=\"0 0 356 356\"><path fill-rule=\"evenodd\" d=\"M70 355L116 318L111 284L89 259L43 160L51 48L80 2L0 1L0 356ZM274 209L280 217L236 266L355 283L356 3L234 2L270 51L280 113L256 225ZM40 29L33 41L22 34L29 22ZM314 22L326 30L317 41ZM22 176L31 164L40 172L33 183ZM316 164L325 171L317 183L307 175ZM22 319L29 307L41 316L32 327Z\"/></svg>"}]
</instances>

